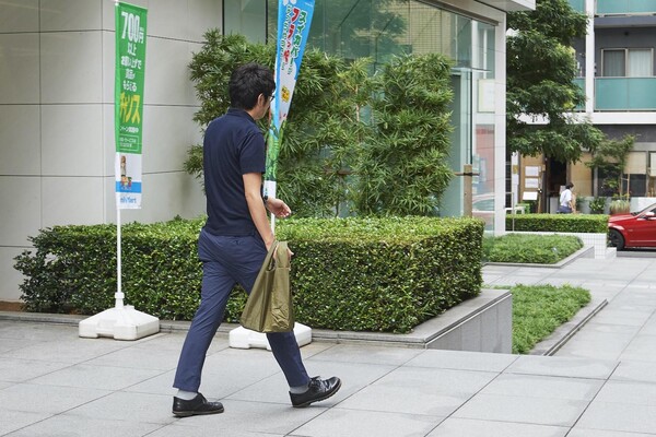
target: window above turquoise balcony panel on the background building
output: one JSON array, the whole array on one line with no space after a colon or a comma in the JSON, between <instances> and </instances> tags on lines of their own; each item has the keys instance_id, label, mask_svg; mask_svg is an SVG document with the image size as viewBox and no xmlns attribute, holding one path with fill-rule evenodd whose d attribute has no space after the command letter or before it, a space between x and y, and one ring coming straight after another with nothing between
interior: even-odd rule
<instances>
[{"instance_id":1,"label":"window above turquoise balcony panel on the background building","mask_svg":"<svg viewBox=\"0 0 656 437\"><path fill-rule=\"evenodd\" d=\"M605 49L602 74L606 78L652 76L654 52L651 48Z\"/></svg>"}]
</instances>

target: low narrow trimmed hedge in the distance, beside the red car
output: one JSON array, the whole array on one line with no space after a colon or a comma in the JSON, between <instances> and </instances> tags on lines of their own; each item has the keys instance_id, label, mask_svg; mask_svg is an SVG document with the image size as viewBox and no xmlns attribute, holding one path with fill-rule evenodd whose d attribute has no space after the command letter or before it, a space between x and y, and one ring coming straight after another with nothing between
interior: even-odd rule
<instances>
[{"instance_id":1,"label":"low narrow trimmed hedge in the distance, beside the red car","mask_svg":"<svg viewBox=\"0 0 656 437\"><path fill-rule=\"evenodd\" d=\"M513 227L514 217L514 227ZM606 234L608 215L602 214L515 214L506 215L506 231Z\"/></svg>"}]
</instances>

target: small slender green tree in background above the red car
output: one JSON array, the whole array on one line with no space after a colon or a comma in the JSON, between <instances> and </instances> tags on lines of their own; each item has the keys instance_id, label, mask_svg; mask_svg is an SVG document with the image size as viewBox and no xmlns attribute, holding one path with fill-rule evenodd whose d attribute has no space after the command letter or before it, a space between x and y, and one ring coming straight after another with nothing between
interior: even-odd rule
<instances>
[{"instance_id":1,"label":"small slender green tree in background above the red car","mask_svg":"<svg viewBox=\"0 0 656 437\"><path fill-rule=\"evenodd\" d=\"M605 140L594 151L591 161L585 164L605 176L601 190L606 196L623 196L622 175L634 144L633 135L624 135L622 140Z\"/></svg>"}]
</instances>

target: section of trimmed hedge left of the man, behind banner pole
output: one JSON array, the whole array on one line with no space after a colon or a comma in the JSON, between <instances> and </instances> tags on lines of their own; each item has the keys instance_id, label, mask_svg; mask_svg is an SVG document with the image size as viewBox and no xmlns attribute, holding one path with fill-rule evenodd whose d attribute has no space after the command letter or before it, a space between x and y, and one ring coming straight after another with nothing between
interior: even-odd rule
<instances>
[{"instance_id":1,"label":"section of trimmed hedge left of the man, behind banner pole","mask_svg":"<svg viewBox=\"0 0 656 437\"><path fill-rule=\"evenodd\" d=\"M188 319L199 302L196 240L201 222L128 224L121 228L126 300L165 319ZM31 238L15 268L30 311L94 314L114 306L116 226L55 226Z\"/></svg>"}]
</instances>

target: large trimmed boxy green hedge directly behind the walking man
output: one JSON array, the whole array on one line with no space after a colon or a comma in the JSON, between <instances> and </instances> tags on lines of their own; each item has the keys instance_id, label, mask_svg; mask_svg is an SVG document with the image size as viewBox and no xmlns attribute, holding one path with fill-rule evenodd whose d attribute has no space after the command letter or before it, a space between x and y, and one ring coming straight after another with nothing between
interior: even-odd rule
<instances>
[{"instance_id":1,"label":"large trimmed boxy green hedge directly behind the walking man","mask_svg":"<svg viewBox=\"0 0 656 437\"><path fill-rule=\"evenodd\" d=\"M126 303L189 320L199 303L201 220L121 227ZM333 218L277 223L294 251L297 321L313 328L409 332L479 294L483 224L472 218ZM27 310L91 315L114 306L116 227L56 226L16 257ZM245 293L236 288L226 321Z\"/></svg>"}]
</instances>

